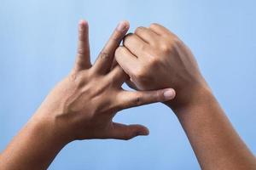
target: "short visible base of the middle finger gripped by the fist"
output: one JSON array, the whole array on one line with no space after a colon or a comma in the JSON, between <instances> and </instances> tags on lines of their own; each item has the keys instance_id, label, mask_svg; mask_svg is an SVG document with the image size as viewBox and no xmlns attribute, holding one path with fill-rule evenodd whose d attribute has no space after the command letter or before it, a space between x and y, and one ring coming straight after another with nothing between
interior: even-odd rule
<instances>
[{"instance_id":1,"label":"short visible base of the middle finger gripped by the fist","mask_svg":"<svg viewBox=\"0 0 256 170\"><path fill-rule=\"evenodd\" d=\"M129 76L120 67L120 65L116 65L113 70L108 73L107 78L108 80L111 80L117 87L121 87L125 80L129 79Z\"/></svg>"}]
</instances>

